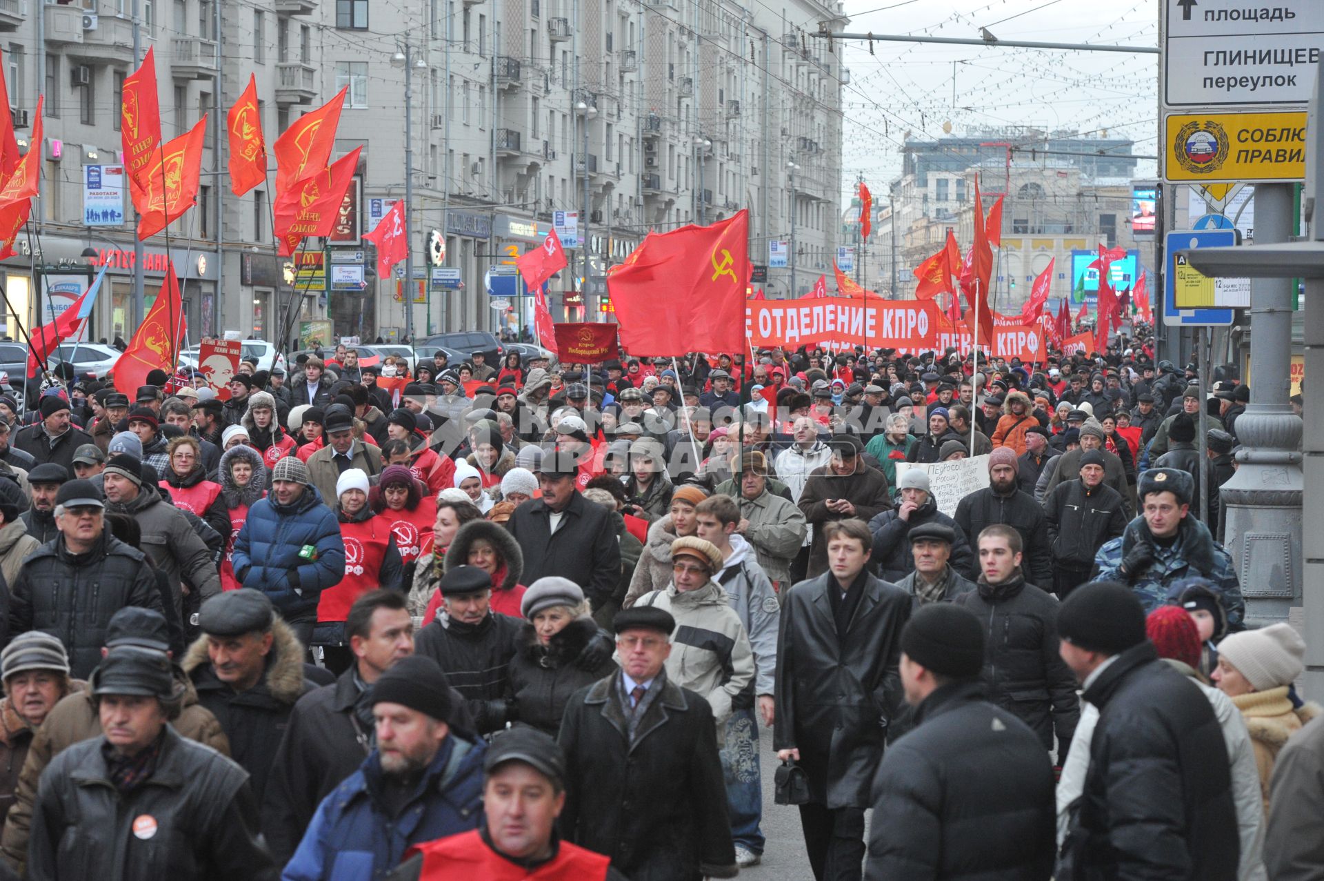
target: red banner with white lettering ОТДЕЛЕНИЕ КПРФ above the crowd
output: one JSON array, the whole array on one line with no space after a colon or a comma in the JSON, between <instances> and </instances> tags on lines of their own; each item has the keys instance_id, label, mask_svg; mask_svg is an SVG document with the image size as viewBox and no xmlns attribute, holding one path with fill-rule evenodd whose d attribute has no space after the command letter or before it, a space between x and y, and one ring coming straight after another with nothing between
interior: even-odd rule
<instances>
[{"instance_id":1,"label":"red banner with white lettering \u041e\u0422\u0414\u0415\u041b\u0415\u041d\u0418\u0415 \u041a\u041f\u0420\u0424 above the crowd","mask_svg":"<svg viewBox=\"0 0 1324 881\"><path fill-rule=\"evenodd\" d=\"M932 348L937 339L937 307L932 301L919 299L768 299L747 303L745 337L755 348L813 344Z\"/></svg>"}]
</instances>

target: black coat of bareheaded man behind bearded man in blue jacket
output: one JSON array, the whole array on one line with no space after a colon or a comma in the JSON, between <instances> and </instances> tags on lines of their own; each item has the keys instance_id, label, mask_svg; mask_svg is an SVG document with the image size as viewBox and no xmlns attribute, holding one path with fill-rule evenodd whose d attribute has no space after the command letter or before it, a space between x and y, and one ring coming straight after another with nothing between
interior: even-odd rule
<instances>
[{"instance_id":1,"label":"black coat of bareheaded man behind bearded man in blue jacket","mask_svg":"<svg viewBox=\"0 0 1324 881\"><path fill-rule=\"evenodd\" d=\"M262 799L262 832L278 865L294 856L322 799L359 770L372 751L373 730L354 715L359 698L355 669L299 698L271 762ZM450 727L473 731L473 719L451 689L455 718Z\"/></svg>"}]
</instances>

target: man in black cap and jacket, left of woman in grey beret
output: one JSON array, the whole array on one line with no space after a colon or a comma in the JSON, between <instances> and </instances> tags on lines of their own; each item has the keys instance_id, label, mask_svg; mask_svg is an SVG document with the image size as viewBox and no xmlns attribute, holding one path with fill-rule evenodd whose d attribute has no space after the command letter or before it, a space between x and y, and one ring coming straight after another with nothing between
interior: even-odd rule
<instances>
[{"instance_id":1,"label":"man in black cap and jacket, left of woman in grey beret","mask_svg":"<svg viewBox=\"0 0 1324 881\"><path fill-rule=\"evenodd\" d=\"M414 639L414 654L437 662L465 697L478 734L506 727L510 660L519 650L518 617L494 612L493 582L477 566L453 566L441 576L444 613Z\"/></svg>"}]
</instances>

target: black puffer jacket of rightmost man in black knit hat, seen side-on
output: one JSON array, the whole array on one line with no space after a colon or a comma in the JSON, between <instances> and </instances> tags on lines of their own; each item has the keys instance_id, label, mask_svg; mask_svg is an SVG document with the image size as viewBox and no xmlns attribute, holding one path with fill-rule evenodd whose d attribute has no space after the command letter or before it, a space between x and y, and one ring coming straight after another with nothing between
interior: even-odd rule
<instances>
[{"instance_id":1,"label":"black puffer jacket of rightmost man in black knit hat, seen side-on","mask_svg":"<svg viewBox=\"0 0 1324 881\"><path fill-rule=\"evenodd\" d=\"M1083 694L1099 707L1090 770L1063 844L1076 881L1231 881L1239 839L1222 729L1209 700L1151 643Z\"/></svg>"}]
</instances>

